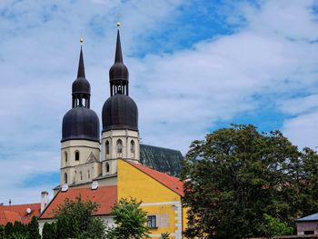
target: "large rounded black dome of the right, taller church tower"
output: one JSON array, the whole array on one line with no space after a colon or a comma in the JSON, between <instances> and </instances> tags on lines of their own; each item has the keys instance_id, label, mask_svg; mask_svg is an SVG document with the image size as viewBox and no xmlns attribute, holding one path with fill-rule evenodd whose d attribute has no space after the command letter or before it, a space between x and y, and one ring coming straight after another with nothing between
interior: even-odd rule
<instances>
[{"instance_id":1,"label":"large rounded black dome of the right, taller church tower","mask_svg":"<svg viewBox=\"0 0 318 239\"><path fill-rule=\"evenodd\" d=\"M113 129L138 131L138 108L128 95L109 97L103 106L103 132Z\"/></svg>"}]
</instances>

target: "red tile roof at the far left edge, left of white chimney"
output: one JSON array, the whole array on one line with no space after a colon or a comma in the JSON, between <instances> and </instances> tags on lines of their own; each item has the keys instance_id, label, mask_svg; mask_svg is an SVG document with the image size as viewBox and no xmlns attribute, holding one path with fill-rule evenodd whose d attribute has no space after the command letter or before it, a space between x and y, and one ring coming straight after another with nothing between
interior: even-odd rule
<instances>
[{"instance_id":1,"label":"red tile roof at the far left edge, left of white chimney","mask_svg":"<svg viewBox=\"0 0 318 239\"><path fill-rule=\"evenodd\" d=\"M26 208L31 209L31 214L26 213ZM32 217L39 216L41 204L0 205L0 224L19 221L23 224L31 222Z\"/></svg>"}]
</instances>

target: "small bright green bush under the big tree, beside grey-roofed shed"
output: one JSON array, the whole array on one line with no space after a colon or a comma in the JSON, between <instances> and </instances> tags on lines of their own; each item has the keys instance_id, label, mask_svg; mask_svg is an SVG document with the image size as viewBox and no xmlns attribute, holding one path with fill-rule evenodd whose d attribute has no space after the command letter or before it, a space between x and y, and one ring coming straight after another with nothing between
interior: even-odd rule
<instances>
[{"instance_id":1,"label":"small bright green bush under the big tree, beside grey-roofed shed","mask_svg":"<svg viewBox=\"0 0 318 239\"><path fill-rule=\"evenodd\" d=\"M274 218L269 214L263 214L263 218L267 236L293 234L293 227L283 223L279 218Z\"/></svg>"}]
</instances>

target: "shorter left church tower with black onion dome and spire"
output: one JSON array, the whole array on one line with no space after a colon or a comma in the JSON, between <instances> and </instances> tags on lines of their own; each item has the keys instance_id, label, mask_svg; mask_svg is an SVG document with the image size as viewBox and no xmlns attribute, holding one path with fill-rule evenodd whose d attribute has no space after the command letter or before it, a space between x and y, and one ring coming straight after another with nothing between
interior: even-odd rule
<instances>
[{"instance_id":1,"label":"shorter left church tower with black onion dome and spire","mask_svg":"<svg viewBox=\"0 0 318 239\"><path fill-rule=\"evenodd\" d=\"M62 124L60 185L91 182L100 174L99 119L90 109L90 97L81 46L77 78L72 85L72 109Z\"/></svg>"}]
</instances>

